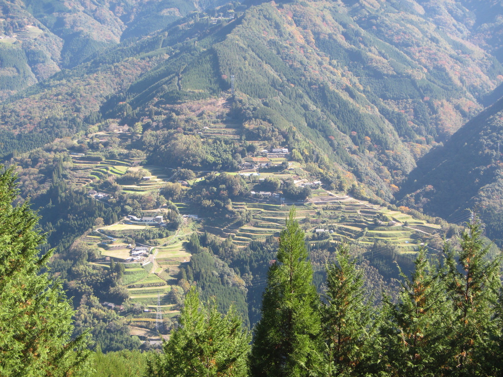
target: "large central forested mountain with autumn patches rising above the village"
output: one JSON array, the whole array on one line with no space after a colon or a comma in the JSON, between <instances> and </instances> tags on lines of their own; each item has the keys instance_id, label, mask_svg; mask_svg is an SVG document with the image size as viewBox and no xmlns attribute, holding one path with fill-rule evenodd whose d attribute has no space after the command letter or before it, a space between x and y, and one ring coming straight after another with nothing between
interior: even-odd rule
<instances>
[{"instance_id":1,"label":"large central forested mountain with autumn patches rising above the village","mask_svg":"<svg viewBox=\"0 0 503 377\"><path fill-rule=\"evenodd\" d=\"M4 154L70 130L86 131L102 118L131 124L153 116L160 128L170 128L172 111L165 105L218 97L234 74L238 122L261 119L285 132L295 128L351 171L367 196L391 201L415 160L480 111L480 100L503 73L469 33L437 25L459 21L415 2L227 5L193 13L146 37L147 32L131 32L134 38L119 44L114 43L126 31L143 30L134 25L147 10L135 13L133 21L140 24L131 21L121 34L123 26L110 10L118 6L106 7L102 26L86 25L94 33L89 38L109 47L4 105ZM67 16L49 12L50 7L27 9L47 25L66 22ZM213 18L218 15L222 18ZM63 38L57 25L51 30ZM65 40L61 51L70 51L71 43ZM32 138L28 147L9 133L13 129L43 136ZM311 154L311 147L304 149L304 156Z\"/></svg>"}]
</instances>

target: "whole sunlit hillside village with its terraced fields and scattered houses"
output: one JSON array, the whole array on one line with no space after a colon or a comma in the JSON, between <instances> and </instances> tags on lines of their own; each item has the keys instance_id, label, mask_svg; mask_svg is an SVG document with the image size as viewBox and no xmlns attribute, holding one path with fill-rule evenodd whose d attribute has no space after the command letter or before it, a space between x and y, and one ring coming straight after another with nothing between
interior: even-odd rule
<instances>
[{"instance_id":1,"label":"whole sunlit hillside village with its terraced fields and scattered houses","mask_svg":"<svg viewBox=\"0 0 503 377\"><path fill-rule=\"evenodd\" d=\"M217 132L221 129L207 130ZM102 132L99 137L101 142L105 142L114 134ZM205 180L208 172L194 172L195 177L179 179L175 168L137 165L132 159L91 161L86 155L72 154L71 157L76 183L88 188L88 196L105 203L115 199L114 193L98 187L94 189L93 180L98 177L103 181L108 175L120 177L141 169L141 177L130 184L123 184L122 189L142 195L162 193L166 185L179 184L181 194L177 198L182 200L167 203L164 200L158 208L142 208L140 213L127 214L117 223L97 227L81 237L88 246L100 250L101 257L92 265L109 268L111 263L124 264L122 284L130 301L144 308L142 314L129 313L127 323L132 335L152 345L160 340L152 327L157 310L164 321L179 313L180 271L191 260L191 252L186 245L193 232L209 232L221 240L230 239L235 247L243 248L252 240L278 236L290 206L295 205L306 238L313 245L326 241L372 245L383 241L399 245L406 253L414 252L416 245L423 243L425 238L438 237L441 233L437 224L327 190L321 180L292 159L288 148L261 148L243 158L236 171L216 173L217 176L224 173L237 175L249 189L246 194L232 200L232 211L229 212L232 215L223 219L201 213L198 205L191 203L186 195ZM303 190L300 200L285 195L281 190L286 181ZM264 189L266 182L271 184L270 190ZM176 229L170 221L173 211L182 218ZM239 221L243 213L249 214L244 223ZM144 239L143 235L139 239L137 235L145 232L152 232L153 238ZM120 305L108 301L103 305L121 313Z\"/></svg>"}]
</instances>

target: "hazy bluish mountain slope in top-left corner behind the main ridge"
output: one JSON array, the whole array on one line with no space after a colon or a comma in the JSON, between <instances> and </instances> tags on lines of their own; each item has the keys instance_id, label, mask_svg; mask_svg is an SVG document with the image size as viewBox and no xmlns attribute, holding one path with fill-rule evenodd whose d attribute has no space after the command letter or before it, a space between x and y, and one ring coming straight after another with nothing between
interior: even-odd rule
<instances>
[{"instance_id":1,"label":"hazy bluish mountain slope in top-left corner behind the main ridge","mask_svg":"<svg viewBox=\"0 0 503 377\"><path fill-rule=\"evenodd\" d=\"M2 0L0 98L62 68L75 67L107 46L164 29L211 4L180 0L151 4L135 0Z\"/></svg>"}]
</instances>

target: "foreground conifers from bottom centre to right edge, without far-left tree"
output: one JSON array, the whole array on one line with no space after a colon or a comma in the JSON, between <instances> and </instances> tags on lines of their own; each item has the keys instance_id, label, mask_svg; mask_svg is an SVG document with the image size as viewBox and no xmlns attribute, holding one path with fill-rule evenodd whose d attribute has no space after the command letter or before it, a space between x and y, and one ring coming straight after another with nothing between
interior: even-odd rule
<instances>
[{"instance_id":1,"label":"foreground conifers from bottom centre to right edge, without far-left tree","mask_svg":"<svg viewBox=\"0 0 503 377\"><path fill-rule=\"evenodd\" d=\"M446 243L442 257L432 259L421 248L411 275L400 272L398 302L384 295L376 306L346 245L326 262L326 291L318 295L304 233L292 208L268 271L262 319L251 345L243 342L250 336L243 327L232 328L237 317L233 309L217 321L211 301L204 310L195 309L201 304L193 289L187 296L190 304L182 309L182 327L164 345L164 353L150 361L150 373L499 375L501 256L486 258L489 247L481 236L475 219L462 234L459 250ZM226 336L219 340L214 332Z\"/></svg>"}]
</instances>

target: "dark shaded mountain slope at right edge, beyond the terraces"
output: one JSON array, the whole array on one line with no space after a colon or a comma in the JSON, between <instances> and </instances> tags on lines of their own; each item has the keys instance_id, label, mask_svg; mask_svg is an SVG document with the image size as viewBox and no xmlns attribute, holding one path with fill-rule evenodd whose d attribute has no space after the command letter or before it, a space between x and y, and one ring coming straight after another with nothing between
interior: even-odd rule
<instances>
[{"instance_id":1,"label":"dark shaded mountain slope at right edge, beyond the terraces","mask_svg":"<svg viewBox=\"0 0 503 377\"><path fill-rule=\"evenodd\" d=\"M454 222L466 220L465 209L478 207L488 237L501 243L501 127L503 99L420 159L397 194L399 203Z\"/></svg>"}]
</instances>

